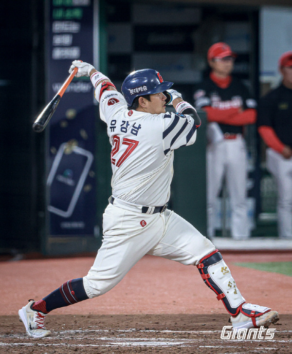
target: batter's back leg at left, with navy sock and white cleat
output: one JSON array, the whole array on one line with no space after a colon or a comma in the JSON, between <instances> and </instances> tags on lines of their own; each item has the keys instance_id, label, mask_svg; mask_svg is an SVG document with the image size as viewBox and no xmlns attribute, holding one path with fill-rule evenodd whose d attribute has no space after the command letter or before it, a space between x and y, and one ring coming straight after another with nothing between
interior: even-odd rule
<instances>
[{"instance_id":1,"label":"batter's back leg at left, with navy sock and white cleat","mask_svg":"<svg viewBox=\"0 0 292 354\"><path fill-rule=\"evenodd\" d=\"M164 222L158 213L141 214L109 204L103 216L103 242L94 263L83 278L72 279L39 301L18 311L27 334L50 335L44 326L46 315L60 307L105 294L128 273L161 239Z\"/></svg>"}]
</instances>

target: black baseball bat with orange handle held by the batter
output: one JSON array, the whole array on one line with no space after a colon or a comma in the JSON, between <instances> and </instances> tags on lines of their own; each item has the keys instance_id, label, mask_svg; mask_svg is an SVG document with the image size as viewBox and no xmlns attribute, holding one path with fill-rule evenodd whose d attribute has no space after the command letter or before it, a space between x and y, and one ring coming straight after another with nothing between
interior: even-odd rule
<instances>
[{"instance_id":1,"label":"black baseball bat with orange handle held by the batter","mask_svg":"<svg viewBox=\"0 0 292 354\"><path fill-rule=\"evenodd\" d=\"M46 128L46 125L49 123L52 115L54 114L58 103L60 102L63 93L66 91L73 77L76 75L78 68L74 68L73 72L67 77L66 81L60 87L59 91L56 93L55 97L49 102L46 107L38 114L34 124L33 130L37 133L43 131Z\"/></svg>"}]
</instances>

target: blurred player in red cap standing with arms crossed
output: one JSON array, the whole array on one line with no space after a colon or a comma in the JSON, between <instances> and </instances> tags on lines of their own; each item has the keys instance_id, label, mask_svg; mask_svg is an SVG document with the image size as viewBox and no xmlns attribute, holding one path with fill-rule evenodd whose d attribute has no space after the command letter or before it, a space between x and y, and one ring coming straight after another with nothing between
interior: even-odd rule
<instances>
[{"instance_id":1,"label":"blurred player in red cap standing with arms crossed","mask_svg":"<svg viewBox=\"0 0 292 354\"><path fill-rule=\"evenodd\" d=\"M226 43L213 44L207 54L209 77L197 86L195 106L207 113L207 216L208 236L215 236L216 200L225 183L231 206L231 236L248 239L247 149L244 126L256 122L256 101L231 76L236 54Z\"/></svg>"}]
</instances>

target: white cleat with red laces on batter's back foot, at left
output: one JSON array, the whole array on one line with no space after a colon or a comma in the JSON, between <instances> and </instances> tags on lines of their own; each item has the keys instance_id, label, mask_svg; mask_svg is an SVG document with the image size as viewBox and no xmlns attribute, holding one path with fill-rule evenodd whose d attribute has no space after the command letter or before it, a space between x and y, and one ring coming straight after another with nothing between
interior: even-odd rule
<instances>
[{"instance_id":1,"label":"white cleat with red laces on batter's back foot, at left","mask_svg":"<svg viewBox=\"0 0 292 354\"><path fill-rule=\"evenodd\" d=\"M42 338L50 335L51 331L47 331L44 326L47 315L31 308L36 302L35 300L28 301L29 303L18 311L19 320L23 322L26 333L34 338Z\"/></svg>"}]
</instances>

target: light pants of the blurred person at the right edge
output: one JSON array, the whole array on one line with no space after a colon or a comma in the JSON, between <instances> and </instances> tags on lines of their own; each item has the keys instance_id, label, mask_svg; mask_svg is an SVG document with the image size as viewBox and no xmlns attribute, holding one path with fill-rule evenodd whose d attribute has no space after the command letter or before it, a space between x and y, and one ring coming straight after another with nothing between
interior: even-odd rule
<instances>
[{"instance_id":1,"label":"light pants of the blurred person at the right edge","mask_svg":"<svg viewBox=\"0 0 292 354\"><path fill-rule=\"evenodd\" d=\"M274 149L267 149L267 169L277 184L278 234L292 239L292 157L285 159Z\"/></svg>"}]
</instances>

